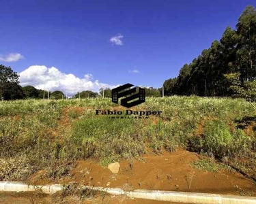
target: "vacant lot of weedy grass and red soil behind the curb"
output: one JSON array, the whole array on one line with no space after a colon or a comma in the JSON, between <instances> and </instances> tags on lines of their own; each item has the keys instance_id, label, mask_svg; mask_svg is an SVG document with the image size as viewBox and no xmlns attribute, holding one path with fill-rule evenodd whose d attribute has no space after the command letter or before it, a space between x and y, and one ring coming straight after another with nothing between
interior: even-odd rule
<instances>
[{"instance_id":1,"label":"vacant lot of weedy grass and red soil behind the curb","mask_svg":"<svg viewBox=\"0 0 256 204\"><path fill-rule=\"evenodd\" d=\"M102 177L93 171L102 168L104 175L106 165L119 161L123 164L119 183L109 181L111 186L130 183L134 188L216 192L214 178L225 182L225 177L231 177L223 188L254 193L256 112L251 103L229 98L147 98L130 109L161 111L160 116L112 119L96 115L96 110L108 109L126 110L111 99L1 101L0 180L41 184L73 180L100 186ZM149 161L140 167L138 162L145 164L149 157L152 165ZM94 177L79 174L91 163ZM157 169L158 164L162 167ZM151 178L145 175L147 169ZM180 169L180 176L175 169ZM137 176L130 175L129 181L122 172ZM207 178L212 189L197 188ZM161 185L162 180L166 184ZM233 193L230 189L222 190Z\"/></svg>"}]
</instances>

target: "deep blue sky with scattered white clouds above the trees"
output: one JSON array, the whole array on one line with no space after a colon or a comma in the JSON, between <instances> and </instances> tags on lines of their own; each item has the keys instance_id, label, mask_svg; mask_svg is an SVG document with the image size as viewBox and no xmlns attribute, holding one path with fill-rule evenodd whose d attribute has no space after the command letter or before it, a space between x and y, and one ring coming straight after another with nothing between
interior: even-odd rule
<instances>
[{"instance_id":1,"label":"deep blue sky with scattered white clouds above the trees","mask_svg":"<svg viewBox=\"0 0 256 204\"><path fill-rule=\"evenodd\" d=\"M153 86L178 75L253 0L1 0L0 64L49 90Z\"/></svg>"}]
</instances>

